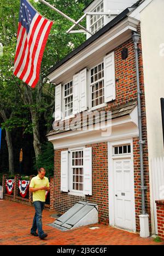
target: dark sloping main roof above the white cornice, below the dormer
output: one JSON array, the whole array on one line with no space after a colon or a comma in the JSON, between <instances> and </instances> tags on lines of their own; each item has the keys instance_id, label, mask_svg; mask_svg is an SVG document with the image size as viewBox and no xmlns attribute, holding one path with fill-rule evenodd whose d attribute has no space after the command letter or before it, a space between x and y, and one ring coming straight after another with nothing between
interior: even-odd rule
<instances>
[{"instance_id":1,"label":"dark sloping main roof above the white cornice, below the dormer","mask_svg":"<svg viewBox=\"0 0 164 256\"><path fill-rule=\"evenodd\" d=\"M93 34L89 39L87 39L83 44L80 44L78 48L74 49L71 53L69 53L66 57L64 57L61 61L57 62L53 67L51 67L48 70L48 75L55 71L58 67L62 66L65 62L70 60L73 56L77 55L81 50L86 48L88 45L90 45L92 42L94 42L96 39L101 37L104 33L112 29L115 25L117 25L119 22L124 20L127 17L127 14L131 12L131 8L137 8L140 3L142 3L145 0L139 0L135 4L132 5L130 8L126 8L122 13L120 13L118 16L116 16L112 21L110 21L106 26L102 27L101 30L99 30L97 33ZM90 3L91 4L91 3Z\"/></svg>"}]
</instances>

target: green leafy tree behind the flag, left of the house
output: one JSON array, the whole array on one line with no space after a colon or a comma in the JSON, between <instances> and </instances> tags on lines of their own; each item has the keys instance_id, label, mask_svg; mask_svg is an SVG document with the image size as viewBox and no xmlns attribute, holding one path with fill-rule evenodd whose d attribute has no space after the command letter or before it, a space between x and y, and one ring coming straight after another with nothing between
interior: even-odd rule
<instances>
[{"instance_id":1,"label":"green leafy tree behind the flag, left of the house","mask_svg":"<svg viewBox=\"0 0 164 256\"><path fill-rule=\"evenodd\" d=\"M51 84L47 84L48 81L46 75L48 74L48 70L50 67L52 67L52 65L55 65L56 62L60 61L74 48L77 48L79 44L84 42L85 35L67 34L66 31L69 27L72 26L72 22L69 22L60 14L56 13L54 10L50 9L43 3L36 3L33 0L31 0L30 2L40 12L40 14L44 15L50 20L54 20L54 25L51 28L48 43L46 44L43 55L42 66L40 69L40 79L36 88L31 89L30 86L26 85L21 80L13 76L14 53L16 49L17 20L19 16L20 1L1 0L0 43L2 43L2 45L4 46L4 55L3 57L1 57L0 60L0 83L2 91L4 92L1 96L2 102L0 108L1 112L3 112L2 118L4 120L4 123L10 123L10 128L14 127L12 117L17 117L15 112L14 114L12 114L13 110L15 111L15 106L17 106L17 109L20 109L18 108L18 104L20 105L23 102L24 106L22 107L29 110L31 114L31 125L27 125L27 127L29 128L29 131L31 129L31 131L33 132L33 147L37 159L42 152L39 121L44 115L44 119L46 121L46 129L47 131L50 129L52 123L52 113L54 112L55 104L55 98L53 96L54 86L52 86ZM49 0L48 2L50 4L55 4L56 8L60 9L68 16L71 16L72 19L78 20L82 15L82 9L90 1ZM17 93L17 90L19 91L19 94ZM49 91L50 94L47 91ZM5 95L6 93L7 95ZM6 97L10 99L9 104L6 104ZM7 113L7 119L4 118L4 112ZM28 120L26 120L25 117L24 120L20 120L18 121L18 123L19 125L21 125L21 123L25 125L25 123L28 124ZM11 141L11 138L9 139L9 141Z\"/></svg>"}]
</instances>

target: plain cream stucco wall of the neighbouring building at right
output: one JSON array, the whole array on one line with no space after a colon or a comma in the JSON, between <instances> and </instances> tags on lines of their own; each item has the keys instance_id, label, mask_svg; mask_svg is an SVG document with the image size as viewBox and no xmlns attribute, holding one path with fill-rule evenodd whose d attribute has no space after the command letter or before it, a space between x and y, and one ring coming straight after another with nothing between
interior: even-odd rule
<instances>
[{"instance_id":1,"label":"plain cream stucco wall of the neighbouring building at right","mask_svg":"<svg viewBox=\"0 0 164 256\"><path fill-rule=\"evenodd\" d=\"M164 1L140 13L149 158L164 156L161 103L164 97Z\"/></svg>"}]
</instances>

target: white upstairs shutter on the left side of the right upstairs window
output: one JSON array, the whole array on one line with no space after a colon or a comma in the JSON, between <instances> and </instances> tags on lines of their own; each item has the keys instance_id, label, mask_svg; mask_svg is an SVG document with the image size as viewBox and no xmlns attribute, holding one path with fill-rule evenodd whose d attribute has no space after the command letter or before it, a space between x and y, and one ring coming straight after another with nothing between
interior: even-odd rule
<instances>
[{"instance_id":1,"label":"white upstairs shutter on the left side of the right upstairs window","mask_svg":"<svg viewBox=\"0 0 164 256\"><path fill-rule=\"evenodd\" d=\"M87 70L83 69L79 73L80 79L80 111L85 111L87 109Z\"/></svg>"}]
</instances>

